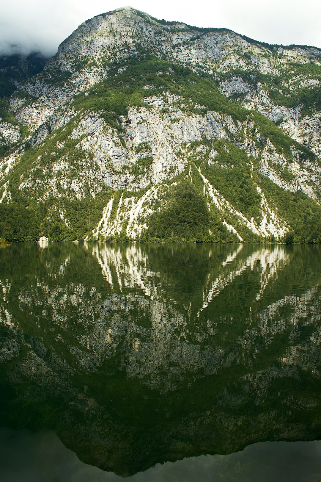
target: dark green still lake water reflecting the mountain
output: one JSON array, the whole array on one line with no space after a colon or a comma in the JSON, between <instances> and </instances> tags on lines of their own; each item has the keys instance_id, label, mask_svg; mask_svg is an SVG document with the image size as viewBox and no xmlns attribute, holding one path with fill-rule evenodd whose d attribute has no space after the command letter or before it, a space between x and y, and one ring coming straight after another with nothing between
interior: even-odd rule
<instances>
[{"instance_id":1,"label":"dark green still lake water reflecting the mountain","mask_svg":"<svg viewBox=\"0 0 321 482\"><path fill-rule=\"evenodd\" d=\"M321 246L1 248L0 479L317 482L320 281Z\"/></svg>"}]
</instances>

